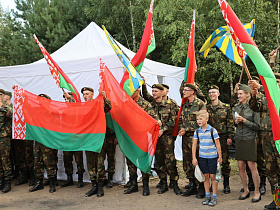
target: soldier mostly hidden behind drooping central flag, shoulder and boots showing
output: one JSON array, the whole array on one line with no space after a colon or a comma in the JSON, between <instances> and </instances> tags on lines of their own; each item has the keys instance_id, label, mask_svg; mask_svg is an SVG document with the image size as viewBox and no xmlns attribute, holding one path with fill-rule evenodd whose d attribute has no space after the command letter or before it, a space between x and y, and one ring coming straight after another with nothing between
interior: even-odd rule
<instances>
[{"instance_id":1,"label":"soldier mostly hidden behind drooping central flag, shoulder and boots showing","mask_svg":"<svg viewBox=\"0 0 280 210\"><path fill-rule=\"evenodd\" d=\"M144 100L140 96L140 88L138 88L131 98L145 111L147 112L151 117L154 119L158 119L157 115L155 114L155 111L153 110L152 105ZM138 184L137 184L137 167L128 159L126 158L128 171L129 171L129 178L130 178L130 185L127 190L124 191L124 194L131 194L133 192L138 192ZM142 172L142 181L143 181L143 196L150 195L149 190L149 174Z\"/></svg>"}]
</instances>

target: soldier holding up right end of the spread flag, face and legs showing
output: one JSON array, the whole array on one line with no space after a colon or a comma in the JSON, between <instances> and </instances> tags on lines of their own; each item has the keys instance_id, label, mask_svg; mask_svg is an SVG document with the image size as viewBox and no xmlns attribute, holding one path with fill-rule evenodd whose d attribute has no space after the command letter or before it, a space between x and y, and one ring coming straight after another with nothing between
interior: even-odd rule
<instances>
[{"instance_id":1,"label":"soldier holding up right end of the spread flag, face and legs showing","mask_svg":"<svg viewBox=\"0 0 280 210\"><path fill-rule=\"evenodd\" d=\"M90 87L83 87L81 89L84 100L91 101L93 100L94 91ZM109 112L112 105L109 99L106 97L106 92L101 92L104 99L104 112ZM90 175L90 180L92 183L92 188L86 193L86 197L90 197L94 194L97 194L97 197L102 197L104 195L103 184L106 181L106 173L104 161L101 161L101 156L96 152L86 151L87 156L87 168ZM99 159L98 159L99 157ZM98 183L97 183L98 181Z\"/></svg>"}]
</instances>

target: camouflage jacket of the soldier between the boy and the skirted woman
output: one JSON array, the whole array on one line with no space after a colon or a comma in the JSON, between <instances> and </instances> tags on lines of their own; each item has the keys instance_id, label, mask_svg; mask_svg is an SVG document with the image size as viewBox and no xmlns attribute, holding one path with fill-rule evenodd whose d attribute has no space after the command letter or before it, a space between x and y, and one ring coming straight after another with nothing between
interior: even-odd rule
<instances>
[{"instance_id":1,"label":"camouflage jacket of the soldier between the boy and the skirted woman","mask_svg":"<svg viewBox=\"0 0 280 210\"><path fill-rule=\"evenodd\" d=\"M217 106L208 104L207 111L209 113L208 122L211 126L216 128L219 136L233 139L235 131L230 105L219 101Z\"/></svg>"}]
</instances>

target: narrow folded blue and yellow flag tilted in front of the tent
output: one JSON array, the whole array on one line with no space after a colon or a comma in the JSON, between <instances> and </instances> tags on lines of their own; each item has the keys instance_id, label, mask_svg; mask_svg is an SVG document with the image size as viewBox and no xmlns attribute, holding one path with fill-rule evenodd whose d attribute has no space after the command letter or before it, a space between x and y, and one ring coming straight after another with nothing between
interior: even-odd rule
<instances>
[{"instance_id":1,"label":"narrow folded blue and yellow flag tilted in front of the tent","mask_svg":"<svg viewBox=\"0 0 280 210\"><path fill-rule=\"evenodd\" d=\"M114 38L108 33L105 26L102 26L108 41L110 42L112 48L114 49L115 53L119 57L120 61L122 62L124 68L129 73L129 81L130 81L130 90L133 93L137 88L141 87L141 85L144 83L142 77L136 70L136 68L133 66L133 64L130 62L129 58L123 53L121 48L118 46L118 44L115 42Z\"/></svg>"}]
</instances>

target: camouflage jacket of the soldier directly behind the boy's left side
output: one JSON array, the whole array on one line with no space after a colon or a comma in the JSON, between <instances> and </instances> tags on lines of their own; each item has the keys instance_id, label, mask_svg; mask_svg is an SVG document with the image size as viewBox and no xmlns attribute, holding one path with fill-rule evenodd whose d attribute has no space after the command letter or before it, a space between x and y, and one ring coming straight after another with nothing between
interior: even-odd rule
<instances>
[{"instance_id":1,"label":"camouflage jacket of the soldier directly behind the boy's left side","mask_svg":"<svg viewBox=\"0 0 280 210\"><path fill-rule=\"evenodd\" d=\"M206 110L206 106L199 98L195 98L191 103L185 102L179 117L179 130L184 128L186 133L193 134L199 127L196 123L196 113L200 110Z\"/></svg>"}]
</instances>

